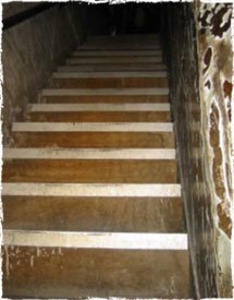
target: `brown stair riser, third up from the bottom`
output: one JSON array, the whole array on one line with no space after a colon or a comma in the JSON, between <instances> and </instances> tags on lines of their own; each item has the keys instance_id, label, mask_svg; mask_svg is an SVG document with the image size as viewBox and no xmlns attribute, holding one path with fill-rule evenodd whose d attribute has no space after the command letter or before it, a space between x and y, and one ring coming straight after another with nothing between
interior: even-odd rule
<instances>
[{"instance_id":1,"label":"brown stair riser, third up from the bottom","mask_svg":"<svg viewBox=\"0 0 234 300\"><path fill-rule=\"evenodd\" d=\"M4 182L175 183L175 160L5 160Z\"/></svg>"}]
</instances>

